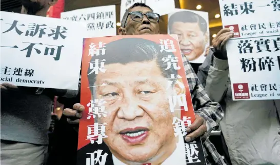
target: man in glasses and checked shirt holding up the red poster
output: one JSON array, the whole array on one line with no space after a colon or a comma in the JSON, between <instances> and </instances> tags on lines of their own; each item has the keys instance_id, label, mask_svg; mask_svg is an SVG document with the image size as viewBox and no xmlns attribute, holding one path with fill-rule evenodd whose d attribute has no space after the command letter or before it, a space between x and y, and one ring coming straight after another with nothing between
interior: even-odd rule
<instances>
[{"instance_id":1,"label":"man in glasses and checked shirt holding up the red poster","mask_svg":"<svg viewBox=\"0 0 280 165\"><path fill-rule=\"evenodd\" d=\"M154 13L149 6L142 3L136 3L131 6L124 14L122 19L122 27L118 29L118 34L159 34L158 22L159 15ZM212 102L209 99L187 58L183 57L183 60L196 117L192 125L186 130L188 135L186 136L185 140L192 141L196 137L201 136L204 143L204 154L207 159L207 164L225 164L221 155L218 154L215 147L208 139L211 131L217 128L218 122L222 119L223 110L217 102ZM69 123L78 123L78 118L82 116L81 113L84 111L85 107L81 104L75 104L73 109L74 110L65 109L64 115L69 117ZM89 153L85 150L87 149L82 148L80 151L83 153ZM157 155L161 154L162 153L157 153ZM150 159L156 162L157 155ZM108 159L112 160L112 156L108 155L107 160ZM163 165L165 162L160 164Z\"/></svg>"}]
</instances>

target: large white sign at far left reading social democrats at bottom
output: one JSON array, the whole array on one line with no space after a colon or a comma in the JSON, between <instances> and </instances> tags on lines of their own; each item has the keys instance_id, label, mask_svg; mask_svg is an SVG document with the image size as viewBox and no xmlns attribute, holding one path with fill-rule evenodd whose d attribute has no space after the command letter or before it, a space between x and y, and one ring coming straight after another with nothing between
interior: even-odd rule
<instances>
[{"instance_id":1,"label":"large white sign at far left reading social democrats at bottom","mask_svg":"<svg viewBox=\"0 0 280 165\"><path fill-rule=\"evenodd\" d=\"M1 11L1 84L77 90L83 26Z\"/></svg>"}]
</instances>

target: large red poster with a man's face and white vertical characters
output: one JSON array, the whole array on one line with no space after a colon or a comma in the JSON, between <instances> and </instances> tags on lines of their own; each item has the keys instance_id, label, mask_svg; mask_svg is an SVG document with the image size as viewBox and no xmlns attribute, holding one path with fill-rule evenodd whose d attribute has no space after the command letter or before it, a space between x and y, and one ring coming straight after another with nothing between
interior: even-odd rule
<instances>
[{"instance_id":1,"label":"large red poster with a man's face and white vertical characters","mask_svg":"<svg viewBox=\"0 0 280 165\"><path fill-rule=\"evenodd\" d=\"M84 39L77 164L206 164L175 38Z\"/></svg>"}]
</instances>

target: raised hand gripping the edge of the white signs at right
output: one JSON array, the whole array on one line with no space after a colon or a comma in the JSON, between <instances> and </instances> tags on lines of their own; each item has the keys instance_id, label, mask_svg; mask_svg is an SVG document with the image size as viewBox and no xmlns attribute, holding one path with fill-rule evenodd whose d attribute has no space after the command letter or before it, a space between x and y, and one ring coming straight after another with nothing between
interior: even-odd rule
<instances>
[{"instance_id":1,"label":"raised hand gripping the edge of the white signs at right","mask_svg":"<svg viewBox=\"0 0 280 165\"><path fill-rule=\"evenodd\" d=\"M230 32L229 28L224 28L220 30L216 37L212 40L212 45L216 50L222 51L223 46L231 37L233 37L233 32Z\"/></svg>"}]
</instances>

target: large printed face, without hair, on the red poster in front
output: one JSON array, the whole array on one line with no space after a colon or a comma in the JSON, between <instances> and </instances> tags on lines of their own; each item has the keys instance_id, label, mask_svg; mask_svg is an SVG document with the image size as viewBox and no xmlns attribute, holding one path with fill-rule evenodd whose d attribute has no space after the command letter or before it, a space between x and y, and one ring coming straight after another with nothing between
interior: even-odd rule
<instances>
[{"instance_id":1,"label":"large printed face, without hair, on the red poster in front","mask_svg":"<svg viewBox=\"0 0 280 165\"><path fill-rule=\"evenodd\" d=\"M103 140L112 154L130 162L145 162L174 151L172 121L181 113L171 113L168 96L177 95L179 87L167 89L168 79L155 60L108 64L105 69L98 73L95 84L106 86L97 87L95 95L106 101L107 116L98 122L107 123L108 137Z\"/></svg>"}]
</instances>

